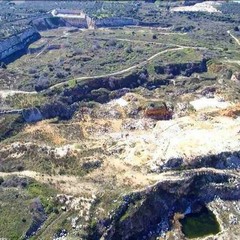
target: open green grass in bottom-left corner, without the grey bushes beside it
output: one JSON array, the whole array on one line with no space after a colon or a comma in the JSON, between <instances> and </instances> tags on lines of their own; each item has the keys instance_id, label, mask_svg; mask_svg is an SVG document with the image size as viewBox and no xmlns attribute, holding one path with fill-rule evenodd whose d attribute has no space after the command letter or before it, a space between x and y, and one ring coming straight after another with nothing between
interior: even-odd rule
<instances>
[{"instance_id":1,"label":"open green grass in bottom-left corner, without the grey bushes beside it","mask_svg":"<svg viewBox=\"0 0 240 240\"><path fill-rule=\"evenodd\" d=\"M35 180L30 180L26 188L0 186L0 236L11 240L24 239L34 221L30 207L34 199L40 197L45 210L50 212L51 197L55 195L55 189Z\"/></svg>"}]
</instances>

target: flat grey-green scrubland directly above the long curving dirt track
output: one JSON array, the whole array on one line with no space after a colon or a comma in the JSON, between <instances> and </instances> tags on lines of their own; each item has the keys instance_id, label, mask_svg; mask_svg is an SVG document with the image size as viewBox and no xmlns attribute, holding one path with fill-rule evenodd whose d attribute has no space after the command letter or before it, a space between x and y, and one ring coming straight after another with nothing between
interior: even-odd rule
<instances>
[{"instance_id":1,"label":"flat grey-green scrubland directly above the long curving dirt track","mask_svg":"<svg viewBox=\"0 0 240 240\"><path fill-rule=\"evenodd\" d=\"M111 32L106 35L106 39L100 39L98 30L95 36L91 31L84 31L72 33L68 38L59 38L63 34L60 30L49 32L56 33L55 40L51 40L49 45L64 47L46 51L38 56L37 53L24 55L9 64L5 74L14 71L15 76L24 79L19 82L19 87L21 85L23 88L34 89L39 84L51 86L67 80L70 86L74 86L75 81L71 79L119 71L164 49L161 45L153 47L152 44L144 42L114 40ZM127 52L128 48L132 51Z\"/></svg>"}]
</instances>

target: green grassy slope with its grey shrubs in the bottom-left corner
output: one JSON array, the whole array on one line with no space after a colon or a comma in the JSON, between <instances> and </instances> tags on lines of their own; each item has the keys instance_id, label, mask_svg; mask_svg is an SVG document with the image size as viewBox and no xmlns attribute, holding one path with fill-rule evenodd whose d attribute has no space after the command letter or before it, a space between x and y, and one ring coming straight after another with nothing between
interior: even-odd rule
<instances>
[{"instance_id":1,"label":"green grassy slope with its grey shrubs in the bottom-left corner","mask_svg":"<svg viewBox=\"0 0 240 240\"><path fill-rule=\"evenodd\" d=\"M11 240L25 239L32 229L45 221L45 212L52 212L49 211L50 198L55 194L56 191L46 184L29 178L3 178L0 185L0 236Z\"/></svg>"}]
</instances>

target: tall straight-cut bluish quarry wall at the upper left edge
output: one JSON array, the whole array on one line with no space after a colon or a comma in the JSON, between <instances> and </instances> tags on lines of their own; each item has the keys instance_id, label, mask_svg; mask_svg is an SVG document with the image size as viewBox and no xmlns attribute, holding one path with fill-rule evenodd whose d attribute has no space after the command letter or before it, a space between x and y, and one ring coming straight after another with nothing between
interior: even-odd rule
<instances>
[{"instance_id":1,"label":"tall straight-cut bluish quarry wall at the upper left edge","mask_svg":"<svg viewBox=\"0 0 240 240\"><path fill-rule=\"evenodd\" d=\"M40 38L33 27L0 41L0 62L10 63L23 55L28 46Z\"/></svg>"}]
</instances>

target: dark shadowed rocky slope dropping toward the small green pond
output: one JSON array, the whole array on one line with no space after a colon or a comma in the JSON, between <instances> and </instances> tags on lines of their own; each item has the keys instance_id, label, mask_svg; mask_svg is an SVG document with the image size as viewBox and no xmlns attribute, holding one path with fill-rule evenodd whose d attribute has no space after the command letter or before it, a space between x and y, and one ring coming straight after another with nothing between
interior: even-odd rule
<instances>
[{"instance_id":1,"label":"dark shadowed rocky slope dropping toward the small green pond","mask_svg":"<svg viewBox=\"0 0 240 240\"><path fill-rule=\"evenodd\" d=\"M235 181L229 184L230 179ZM216 197L238 200L239 196L239 179L231 175L214 170L189 172L182 180L161 181L125 197L105 226L98 223L102 231L98 234L105 240L152 239L171 229L175 213L194 211L194 206L204 206Z\"/></svg>"}]
</instances>

